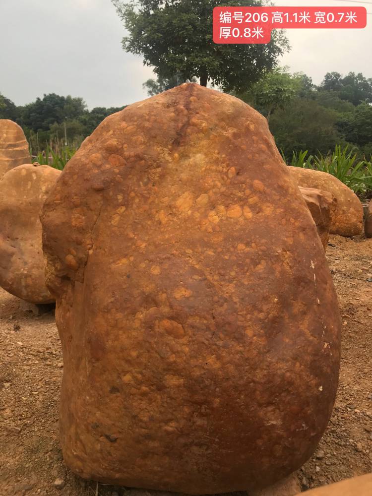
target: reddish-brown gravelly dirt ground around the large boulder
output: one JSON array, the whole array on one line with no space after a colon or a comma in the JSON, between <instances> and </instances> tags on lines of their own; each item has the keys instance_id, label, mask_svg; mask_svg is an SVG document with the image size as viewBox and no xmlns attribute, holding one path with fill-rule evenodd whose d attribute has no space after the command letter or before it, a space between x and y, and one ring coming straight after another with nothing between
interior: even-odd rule
<instances>
[{"instance_id":1,"label":"reddish-brown gravelly dirt ground around the large boulder","mask_svg":"<svg viewBox=\"0 0 372 496\"><path fill-rule=\"evenodd\" d=\"M332 236L327 257L343 320L340 383L318 450L298 472L303 491L372 472L372 240ZM63 465L54 315L35 316L19 304L0 290L0 496L129 496Z\"/></svg>"}]
</instances>

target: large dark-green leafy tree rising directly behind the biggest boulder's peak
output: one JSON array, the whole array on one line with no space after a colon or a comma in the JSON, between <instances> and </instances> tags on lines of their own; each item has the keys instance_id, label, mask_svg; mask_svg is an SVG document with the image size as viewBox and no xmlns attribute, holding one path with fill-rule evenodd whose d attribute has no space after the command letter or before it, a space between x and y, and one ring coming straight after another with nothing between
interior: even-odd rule
<instances>
[{"instance_id":1,"label":"large dark-green leafy tree rising directly behind the biggest boulder's peak","mask_svg":"<svg viewBox=\"0 0 372 496\"><path fill-rule=\"evenodd\" d=\"M183 79L200 78L200 84L225 91L246 91L277 58L289 50L282 31L274 31L266 45L215 44L212 13L218 5L262 5L260 0L112 0L124 21L126 52L142 55L162 78L180 73Z\"/></svg>"}]
</instances>

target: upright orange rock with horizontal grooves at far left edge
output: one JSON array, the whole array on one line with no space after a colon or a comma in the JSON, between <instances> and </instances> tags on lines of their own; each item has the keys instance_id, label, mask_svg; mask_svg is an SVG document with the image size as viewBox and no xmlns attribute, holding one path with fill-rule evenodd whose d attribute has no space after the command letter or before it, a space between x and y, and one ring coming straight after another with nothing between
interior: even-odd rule
<instances>
[{"instance_id":1,"label":"upright orange rock with horizontal grooves at far left edge","mask_svg":"<svg viewBox=\"0 0 372 496\"><path fill-rule=\"evenodd\" d=\"M0 119L0 179L10 169L30 164L28 143L22 128L8 119Z\"/></svg>"}]
</instances>

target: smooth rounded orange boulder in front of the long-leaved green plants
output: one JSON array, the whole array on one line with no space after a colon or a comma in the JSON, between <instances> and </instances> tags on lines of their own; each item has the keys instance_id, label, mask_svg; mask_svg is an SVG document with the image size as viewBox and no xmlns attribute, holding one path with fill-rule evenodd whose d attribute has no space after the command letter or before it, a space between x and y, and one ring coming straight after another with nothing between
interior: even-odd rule
<instances>
[{"instance_id":1,"label":"smooth rounded orange boulder in front of the long-leaved green plants","mask_svg":"<svg viewBox=\"0 0 372 496\"><path fill-rule=\"evenodd\" d=\"M330 234L351 237L363 232L363 205L358 196L341 181L326 172L290 167L299 186L329 191L337 200Z\"/></svg>"}]
</instances>

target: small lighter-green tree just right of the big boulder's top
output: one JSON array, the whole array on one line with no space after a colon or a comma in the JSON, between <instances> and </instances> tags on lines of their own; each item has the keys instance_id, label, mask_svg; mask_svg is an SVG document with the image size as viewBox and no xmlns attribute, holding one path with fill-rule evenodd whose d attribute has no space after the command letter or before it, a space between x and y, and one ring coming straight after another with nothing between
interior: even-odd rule
<instances>
[{"instance_id":1,"label":"small lighter-green tree just right of the big boulder's top","mask_svg":"<svg viewBox=\"0 0 372 496\"><path fill-rule=\"evenodd\" d=\"M286 69L275 69L255 83L248 93L239 97L251 103L269 121L271 114L277 109L284 109L303 84L302 76L292 76Z\"/></svg>"}]
</instances>

